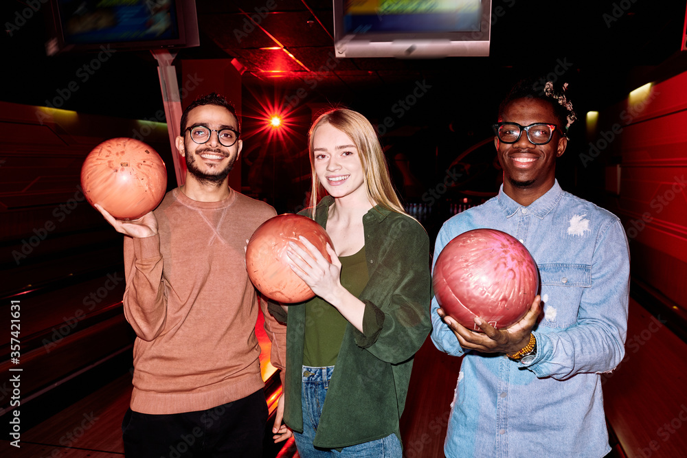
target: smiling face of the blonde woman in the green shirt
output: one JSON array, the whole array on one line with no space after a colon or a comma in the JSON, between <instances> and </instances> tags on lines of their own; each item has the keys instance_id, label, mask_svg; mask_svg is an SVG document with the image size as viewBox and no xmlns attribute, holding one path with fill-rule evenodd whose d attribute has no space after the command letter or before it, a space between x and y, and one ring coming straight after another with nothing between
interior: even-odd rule
<instances>
[{"instance_id":1,"label":"smiling face of the blonde woman in the green shirt","mask_svg":"<svg viewBox=\"0 0 687 458\"><path fill-rule=\"evenodd\" d=\"M360 152L346 133L329 123L317 126L313 133L313 164L319 183L331 196L368 201Z\"/></svg>"}]
</instances>

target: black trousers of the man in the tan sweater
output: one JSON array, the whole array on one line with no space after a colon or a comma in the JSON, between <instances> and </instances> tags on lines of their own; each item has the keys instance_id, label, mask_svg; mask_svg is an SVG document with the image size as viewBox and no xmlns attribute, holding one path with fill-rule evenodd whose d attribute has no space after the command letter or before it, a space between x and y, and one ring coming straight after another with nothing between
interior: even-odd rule
<instances>
[{"instance_id":1,"label":"black trousers of the man in the tan sweater","mask_svg":"<svg viewBox=\"0 0 687 458\"><path fill-rule=\"evenodd\" d=\"M205 411L150 415L126 411L126 458L261 458L267 423L262 390Z\"/></svg>"}]
</instances>

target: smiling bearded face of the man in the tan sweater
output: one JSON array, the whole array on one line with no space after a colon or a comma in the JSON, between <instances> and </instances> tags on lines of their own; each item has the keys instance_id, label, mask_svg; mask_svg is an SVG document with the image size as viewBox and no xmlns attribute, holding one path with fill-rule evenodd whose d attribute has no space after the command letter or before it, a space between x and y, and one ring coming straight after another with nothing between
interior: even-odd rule
<instances>
[{"instance_id":1,"label":"smiling bearded face of the man in the tan sweater","mask_svg":"<svg viewBox=\"0 0 687 458\"><path fill-rule=\"evenodd\" d=\"M218 105L196 106L188 112L186 124L216 130L232 128L238 131L236 117L227 108ZM234 162L243 148L243 141L239 139L232 146L223 146L217 139L217 133L211 134L206 143L199 145L190 139L190 133L184 132L183 136L177 137L177 148L186 159L187 179L221 185L234 167Z\"/></svg>"}]
</instances>

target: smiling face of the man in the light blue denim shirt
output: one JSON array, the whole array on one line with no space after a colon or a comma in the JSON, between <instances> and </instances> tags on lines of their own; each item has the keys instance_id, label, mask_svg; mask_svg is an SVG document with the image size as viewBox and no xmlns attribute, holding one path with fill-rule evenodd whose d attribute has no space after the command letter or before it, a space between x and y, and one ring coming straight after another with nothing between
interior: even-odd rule
<instances>
[{"instance_id":1,"label":"smiling face of the man in the light blue denim shirt","mask_svg":"<svg viewBox=\"0 0 687 458\"><path fill-rule=\"evenodd\" d=\"M521 126L536 122L559 124L552 105L537 98L513 100L499 121L516 122ZM545 145L532 144L524 132L514 144L505 144L498 137L494 144L504 169L504 192L517 203L530 205L554 185L556 157L565 152L567 138L556 129Z\"/></svg>"}]
</instances>

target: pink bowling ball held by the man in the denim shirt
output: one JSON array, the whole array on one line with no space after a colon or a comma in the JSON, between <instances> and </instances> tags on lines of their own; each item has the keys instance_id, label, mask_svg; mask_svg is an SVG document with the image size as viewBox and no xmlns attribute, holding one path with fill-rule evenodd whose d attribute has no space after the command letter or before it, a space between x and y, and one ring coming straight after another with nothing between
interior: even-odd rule
<instances>
[{"instance_id":1,"label":"pink bowling ball held by the man in the denim shirt","mask_svg":"<svg viewBox=\"0 0 687 458\"><path fill-rule=\"evenodd\" d=\"M539 290L537 264L513 236L474 229L454 238L439 254L432 284L450 317L480 331L475 317L494 328L508 328L530 309Z\"/></svg>"}]
</instances>

